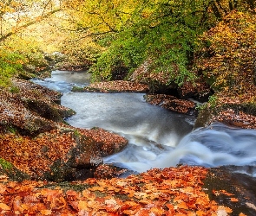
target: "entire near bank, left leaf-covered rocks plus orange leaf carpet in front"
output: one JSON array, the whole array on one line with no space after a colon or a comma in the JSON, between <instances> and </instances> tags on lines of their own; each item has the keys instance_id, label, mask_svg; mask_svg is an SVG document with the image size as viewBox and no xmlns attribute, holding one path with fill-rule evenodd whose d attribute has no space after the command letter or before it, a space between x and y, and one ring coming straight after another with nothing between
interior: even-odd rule
<instances>
[{"instance_id":1,"label":"entire near bank, left leaf-covered rocks plus orange leaf carpet in front","mask_svg":"<svg viewBox=\"0 0 256 216\"><path fill-rule=\"evenodd\" d=\"M74 111L58 105L59 93L22 80L16 80L16 86L18 86L18 92L2 91L1 94L1 111L3 111L1 119L4 123L1 124L1 145L6 146L2 149L1 155L6 159L1 162L1 181L3 182L1 213L3 215L12 215L11 213L15 211L17 214L30 213L31 215L36 213L39 215L56 215L56 213L63 215L84 215L85 213L95 213L95 215L143 213L143 215L150 213L154 215L180 215L181 213L184 215L209 215L209 213L253 215L255 213L253 212L255 196L253 196L254 192L250 191L250 187L239 183L224 187L228 178L223 179L223 172L226 176L233 176L235 173L234 170L228 172L228 167L155 169L122 179L119 188L114 188L113 185L113 182L115 184L115 181L119 181L117 179L48 183L47 181L63 182L93 177L95 168L102 163L102 157L120 151L126 146L127 141L105 130L97 128L82 130L63 124L62 119L69 117ZM10 170L15 168L18 168L20 173L18 178L17 175L9 175ZM106 170L108 172L110 169L99 166L98 177L115 176L116 170L112 176L104 175ZM200 173L198 178L196 173ZM248 173L240 172L238 175L242 175L238 179L244 180L245 176L248 176L251 183L253 182L253 177ZM201 178L200 181L199 178ZM23 181L25 179L30 181ZM33 179L41 181L31 181ZM21 183L11 180L21 181ZM171 191L163 188L162 182L165 181L173 184ZM220 186L220 181L223 182L223 186L222 184ZM204 182L207 190L201 189L203 186L201 184ZM238 182L242 181L238 180ZM169 183L167 187L170 187ZM48 187L48 189L42 187ZM198 189L195 192L192 188ZM129 193L134 191L134 194L127 194L127 190ZM240 190L243 190L244 194L240 194ZM13 191L16 191L16 194L8 195ZM91 196L91 202L84 200L84 194ZM187 194L194 199L187 199ZM31 200L28 200L28 197ZM59 201L53 202L56 199ZM44 202L44 200L47 201ZM39 205L39 203L42 204Z\"/></svg>"}]
</instances>

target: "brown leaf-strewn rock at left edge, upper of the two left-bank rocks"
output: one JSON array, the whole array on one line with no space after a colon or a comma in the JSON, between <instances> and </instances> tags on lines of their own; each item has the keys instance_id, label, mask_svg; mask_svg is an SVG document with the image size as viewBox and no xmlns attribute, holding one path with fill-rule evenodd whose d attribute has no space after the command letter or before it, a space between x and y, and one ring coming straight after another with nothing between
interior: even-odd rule
<instances>
[{"instance_id":1,"label":"brown leaf-strewn rock at left edge, upper of the two left-bank rocks","mask_svg":"<svg viewBox=\"0 0 256 216\"><path fill-rule=\"evenodd\" d=\"M0 92L0 125L22 135L35 137L39 133L56 129L75 112L58 105L61 94L38 86L30 81L13 80L13 88Z\"/></svg>"}]
</instances>

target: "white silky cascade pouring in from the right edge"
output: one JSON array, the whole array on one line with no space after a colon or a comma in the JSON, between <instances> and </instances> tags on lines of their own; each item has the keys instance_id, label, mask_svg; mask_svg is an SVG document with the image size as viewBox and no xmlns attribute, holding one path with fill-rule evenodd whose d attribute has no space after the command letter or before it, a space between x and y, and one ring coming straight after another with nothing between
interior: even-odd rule
<instances>
[{"instance_id":1,"label":"white silky cascade pouring in from the right edge","mask_svg":"<svg viewBox=\"0 0 256 216\"><path fill-rule=\"evenodd\" d=\"M129 156L137 150L126 149L115 156L108 156L105 162L114 162L121 167L143 172L149 168L166 168L179 163L188 165L201 165L205 167L218 167L222 165L256 165L256 131L241 130L227 127L224 124L194 130L183 137L172 149L165 149L157 156L148 157L141 149L137 160L128 161ZM135 158L135 156L133 156Z\"/></svg>"}]
</instances>

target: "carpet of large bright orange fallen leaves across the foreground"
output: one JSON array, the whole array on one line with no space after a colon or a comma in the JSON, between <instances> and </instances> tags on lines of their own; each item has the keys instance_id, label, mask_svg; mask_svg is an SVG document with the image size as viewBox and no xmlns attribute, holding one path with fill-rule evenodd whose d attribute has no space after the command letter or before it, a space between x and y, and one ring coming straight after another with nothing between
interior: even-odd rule
<instances>
[{"instance_id":1,"label":"carpet of large bright orange fallen leaves across the foreground","mask_svg":"<svg viewBox=\"0 0 256 216\"><path fill-rule=\"evenodd\" d=\"M230 208L209 200L202 189L206 175L207 169L200 167L154 168L126 179L72 182L69 189L46 181L8 181L1 176L0 213L6 216L232 213ZM72 189L78 185L83 187L81 191Z\"/></svg>"}]
</instances>

